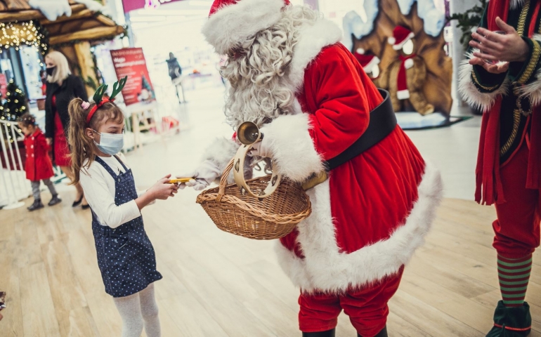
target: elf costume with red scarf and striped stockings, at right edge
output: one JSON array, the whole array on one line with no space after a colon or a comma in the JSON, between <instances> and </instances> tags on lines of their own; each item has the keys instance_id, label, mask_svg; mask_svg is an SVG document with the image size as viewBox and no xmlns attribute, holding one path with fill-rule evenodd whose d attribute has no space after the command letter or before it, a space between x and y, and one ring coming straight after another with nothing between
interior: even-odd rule
<instances>
[{"instance_id":1,"label":"elf costume with red scarf and striped stockings, at right edge","mask_svg":"<svg viewBox=\"0 0 541 337\"><path fill-rule=\"evenodd\" d=\"M484 111L476 169L476 201L495 204L493 223L502 300L488 337L528 336L531 317L524 302L532 253L541 222L541 1L491 0L481 27L498 31L500 17L530 47L526 62L492 74L466 60L459 91ZM471 52L471 51L470 51ZM472 53L468 54L468 58Z\"/></svg>"}]
</instances>

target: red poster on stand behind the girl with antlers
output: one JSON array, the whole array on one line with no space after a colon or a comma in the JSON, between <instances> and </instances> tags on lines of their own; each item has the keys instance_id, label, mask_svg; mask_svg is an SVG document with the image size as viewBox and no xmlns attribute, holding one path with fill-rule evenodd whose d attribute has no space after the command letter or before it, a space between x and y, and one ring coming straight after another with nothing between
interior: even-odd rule
<instances>
[{"instance_id":1,"label":"red poster on stand behind the girl with antlers","mask_svg":"<svg viewBox=\"0 0 541 337\"><path fill-rule=\"evenodd\" d=\"M126 86L122 89L126 106L148 103L156 99L142 48L124 48L111 51L111 57L117 78L128 77Z\"/></svg>"}]
</instances>

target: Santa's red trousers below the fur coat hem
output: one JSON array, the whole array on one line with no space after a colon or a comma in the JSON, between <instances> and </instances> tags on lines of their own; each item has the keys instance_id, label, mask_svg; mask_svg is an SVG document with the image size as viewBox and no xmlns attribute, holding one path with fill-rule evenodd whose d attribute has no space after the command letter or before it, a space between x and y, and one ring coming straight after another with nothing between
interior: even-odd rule
<instances>
[{"instance_id":1,"label":"Santa's red trousers below the fur coat hem","mask_svg":"<svg viewBox=\"0 0 541 337\"><path fill-rule=\"evenodd\" d=\"M347 291L341 295L301 293L299 296L299 327L303 332L334 329L342 309L360 336L373 337L385 327L389 307L387 303L398 290L404 267L377 284Z\"/></svg>"}]
</instances>

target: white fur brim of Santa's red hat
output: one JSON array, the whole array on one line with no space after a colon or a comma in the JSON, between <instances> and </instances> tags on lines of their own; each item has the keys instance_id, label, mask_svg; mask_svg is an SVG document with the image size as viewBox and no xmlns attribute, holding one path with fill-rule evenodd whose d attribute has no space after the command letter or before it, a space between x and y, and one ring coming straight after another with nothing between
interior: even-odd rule
<instances>
[{"instance_id":1,"label":"white fur brim of Santa's red hat","mask_svg":"<svg viewBox=\"0 0 541 337\"><path fill-rule=\"evenodd\" d=\"M216 53L227 54L240 42L278 22L284 6L284 0L242 0L211 15L202 33Z\"/></svg>"}]
</instances>

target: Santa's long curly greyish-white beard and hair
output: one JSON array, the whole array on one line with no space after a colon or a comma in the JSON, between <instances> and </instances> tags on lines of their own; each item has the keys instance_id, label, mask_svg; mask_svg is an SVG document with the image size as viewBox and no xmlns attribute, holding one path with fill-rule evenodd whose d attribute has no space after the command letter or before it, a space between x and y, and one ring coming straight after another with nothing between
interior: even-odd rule
<instances>
[{"instance_id":1,"label":"Santa's long curly greyish-white beard and hair","mask_svg":"<svg viewBox=\"0 0 541 337\"><path fill-rule=\"evenodd\" d=\"M280 114L293 113L295 93L284 76L293 59L299 32L318 20L317 12L305 6L287 6L272 27L255 34L233 52L242 55L221 67L231 84L226 98L226 121L237 128L245 121L261 127Z\"/></svg>"}]
</instances>

